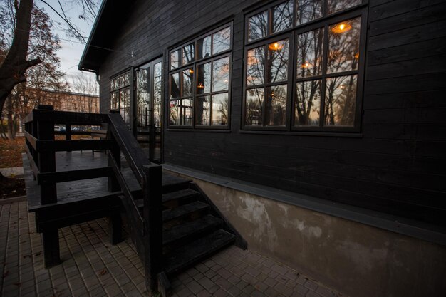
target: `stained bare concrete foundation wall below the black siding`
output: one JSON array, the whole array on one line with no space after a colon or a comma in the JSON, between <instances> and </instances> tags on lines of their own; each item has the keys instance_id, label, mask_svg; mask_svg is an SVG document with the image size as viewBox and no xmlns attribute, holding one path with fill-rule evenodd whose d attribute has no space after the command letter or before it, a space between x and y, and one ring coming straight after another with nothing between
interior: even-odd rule
<instances>
[{"instance_id":1,"label":"stained bare concrete foundation wall below the black siding","mask_svg":"<svg viewBox=\"0 0 446 297\"><path fill-rule=\"evenodd\" d=\"M248 242L348 296L446 296L446 247L200 179Z\"/></svg>"}]
</instances>

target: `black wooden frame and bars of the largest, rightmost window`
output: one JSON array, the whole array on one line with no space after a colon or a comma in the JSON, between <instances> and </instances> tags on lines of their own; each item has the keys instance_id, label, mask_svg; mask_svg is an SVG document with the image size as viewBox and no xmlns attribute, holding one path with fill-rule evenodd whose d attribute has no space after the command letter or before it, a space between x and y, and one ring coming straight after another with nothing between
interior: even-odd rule
<instances>
[{"instance_id":1,"label":"black wooden frame and bars of the largest, rightmost window","mask_svg":"<svg viewBox=\"0 0 446 297\"><path fill-rule=\"evenodd\" d=\"M363 105L363 85L364 85L364 78L365 78L365 55L366 55L366 41L367 41L367 17L368 17L368 0L362 0L361 4L357 4L356 6L349 7L348 9L344 9L343 11L336 11L333 14L327 14L328 7L325 4L328 4L328 0L323 0L323 16L318 19L314 19L312 21L308 21L304 24L296 25L296 6L298 5L298 1L293 0L293 23L291 28L288 28L284 31L280 31L277 33L271 33L272 31L272 11L275 6L278 6L282 3L285 3L287 1L279 0L271 2L270 4L266 6L258 7L249 13L245 14L244 20L244 82L243 82L243 94L242 94L242 119L241 119L241 130L244 132L274 132L274 131L281 131L281 132L288 132L291 134L296 134L300 132L316 132L316 133L323 133L323 132L337 132L337 133L351 133L351 132L361 132L361 115L362 115L362 105ZM262 11L268 11L268 34L262 38L258 38L255 41L249 41L249 18L251 16L255 16L256 14L261 13ZM355 71L343 71L338 73L326 73L327 68L327 52L328 52L328 27L331 24L336 24L340 21L345 21L348 19L356 19L357 17L361 18L361 31L359 34L359 49L360 49L360 56L358 59L358 68ZM297 54L296 54L296 41L297 36L300 33L306 33L308 31L313 31L318 28L323 28L323 72L322 75L318 75L311 78L297 78ZM288 80L286 80L286 83L288 84L287 88L287 106L286 106L286 127L283 126L253 126L253 125L245 125L246 124L246 100L247 100L247 90L249 90L252 87L247 87L247 53L250 49L256 48L259 46L259 44L268 44L272 43L274 41L280 40L280 36L285 36L289 34L290 37L290 48L289 48L289 54L292 56L289 56L289 71L291 69L292 73L289 75ZM292 43L291 43L292 42ZM265 71L266 68L265 68ZM356 78L356 110L354 112L355 119L353 121L353 126L340 126L340 125L324 125L323 123L323 115L320 116L320 123L318 126L295 126L295 108L296 108L296 83L297 81L309 81L309 80L315 80L320 79L321 80L321 101L323 103L321 104L321 110L325 104L325 80L326 78L331 77L338 77L338 76L345 76L345 75L357 75ZM287 133L287 134L288 134ZM316 134L317 135L317 134Z\"/></svg>"}]
</instances>

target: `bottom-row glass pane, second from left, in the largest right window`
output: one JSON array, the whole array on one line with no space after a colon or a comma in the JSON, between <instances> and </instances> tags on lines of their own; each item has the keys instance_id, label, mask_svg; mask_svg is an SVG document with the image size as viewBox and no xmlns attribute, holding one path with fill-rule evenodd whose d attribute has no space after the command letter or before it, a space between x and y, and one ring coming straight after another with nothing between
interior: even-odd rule
<instances>
[{"instance_id":1,"label":"bottom-row glass pane, second from left, in the largest right window","mask_svg":"<svg viewBox=\"0 0 446 297\"><path fill-rule=\"evenodd\" d=\"M266 88L266 126L286 124L286 85Z\"/></svg>"}]
</instances>

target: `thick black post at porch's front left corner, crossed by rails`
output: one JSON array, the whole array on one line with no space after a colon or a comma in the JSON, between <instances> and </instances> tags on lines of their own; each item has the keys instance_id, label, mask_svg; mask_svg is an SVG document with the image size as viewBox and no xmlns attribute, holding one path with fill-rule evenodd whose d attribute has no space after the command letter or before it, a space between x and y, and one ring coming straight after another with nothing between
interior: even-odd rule
<instances>
[{"instance_id":1,"label":"thick black post at porch's front left corner, crossed by rails","mask_svg":"<svg viewBox=\"0 0 446 297\"><path fill-rule=\"evenodd\" d=\"M39 110L54 110L51 105L38 105ZM54 140L54 121L39 120L37 122L37 139ZM56 153L38 152L38 170L44 172L56 172ZM41 184L41 204L57 202L56 183ZM43 259L45 267L61 263L59 256L59 233L57 227L48 227L42 232L43 239Z\"/></svg>"}]
</instances>

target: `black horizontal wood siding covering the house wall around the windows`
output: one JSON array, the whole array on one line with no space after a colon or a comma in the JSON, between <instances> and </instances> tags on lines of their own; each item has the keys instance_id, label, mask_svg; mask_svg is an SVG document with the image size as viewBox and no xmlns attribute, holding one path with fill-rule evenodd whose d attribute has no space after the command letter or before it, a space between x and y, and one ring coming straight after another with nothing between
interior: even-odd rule
<instances>
[{"instance_id":1,"label":"black horizontal wood siding covering the house wall around the windows","mask_svg":"<svg viewBox=\"0 0 446 297\"><path fill-rule=\"evenodd\" d=\"M243 9L254 2L137 1L100 68L101 110L111 75L161 55L167 68L167 48L232 20L231 129L167 129L165 162L445 226L446 2L370 0L361 135L351 136L240 130ZM166 83L166 115L167 95Z\"/></svg>"}]
</instances>

